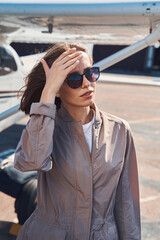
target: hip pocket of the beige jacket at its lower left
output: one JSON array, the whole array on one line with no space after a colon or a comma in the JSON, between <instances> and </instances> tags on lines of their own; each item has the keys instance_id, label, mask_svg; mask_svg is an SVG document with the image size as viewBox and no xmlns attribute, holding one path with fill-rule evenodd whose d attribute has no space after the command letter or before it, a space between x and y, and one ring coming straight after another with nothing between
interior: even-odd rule
<instances>
[{"instance_id":1,"label":"hip pocket of the beige jacket at its lower left","mask_svg":"<svg viewBox=\"0 0 160 240\"><path fill-rule=\"evenodd\" d=\"M28 240L66 240L66 230L56 223L47 223L36 217L30 223L27 231Z\"/></svg>"}]
</instances>

